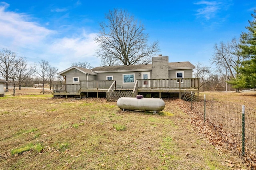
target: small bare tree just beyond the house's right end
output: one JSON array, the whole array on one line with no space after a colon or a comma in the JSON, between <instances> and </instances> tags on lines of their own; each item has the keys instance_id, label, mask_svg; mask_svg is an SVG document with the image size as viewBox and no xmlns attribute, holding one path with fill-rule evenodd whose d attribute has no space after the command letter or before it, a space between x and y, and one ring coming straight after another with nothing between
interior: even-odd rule
<instances>
[{"instance_id":1,"label":"small bare tree just beyond the house's right end","mask_svg":"<svg viewBox=\"0 0 256 170\"><path fill-rule=\"evenodd\" d=\"M207 77L210 75L210 67L203 66L202 63L198 62L195 64L193 69L193 75L195 78L200 78L200 87L204 86L207 82Z\"/></svg>"}]
</instances>

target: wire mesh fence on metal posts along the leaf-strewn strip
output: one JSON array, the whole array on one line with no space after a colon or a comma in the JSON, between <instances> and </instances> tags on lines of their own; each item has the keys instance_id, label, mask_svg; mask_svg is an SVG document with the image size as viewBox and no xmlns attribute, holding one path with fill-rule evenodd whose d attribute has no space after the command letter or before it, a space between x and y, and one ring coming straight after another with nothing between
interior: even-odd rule
<instances>
[{"instance_id":1,"label":"wire mesh fence on metal posts along the leaf-strewn strip","mask_svg":"<svg viewBox=\"0 0 256 170\"><path fill-rule=\"evenodd\" d=\"M230 149L256 164L255 109L204 94L182 93L180 97L219 134L222 141L230 145ZM244 107L244 123L242 107Z\"/></svg>"}]
</instances>

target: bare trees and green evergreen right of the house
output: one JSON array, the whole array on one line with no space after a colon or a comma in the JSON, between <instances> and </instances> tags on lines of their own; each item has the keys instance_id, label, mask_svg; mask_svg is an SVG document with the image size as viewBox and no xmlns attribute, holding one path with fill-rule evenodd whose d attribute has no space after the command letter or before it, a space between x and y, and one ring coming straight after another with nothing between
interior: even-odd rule
<instances>
[{"instance_id":1,"label":"bare trees and green evergreen right of the house","mask_svg":"<svg viewBox=\"0 0 256 170\"><path fill-rule=\"evenodd\" d=\"M242 32L238 39L214 45L210 61L216 64L215 70L196 64L194 76L200 78L201 90L214 88L215 91L218 87L223 91L225 83L236 92L242 88L256 88L256 15L252 14L252 18L246 27L248 31Z\"/></svg>"}]
</instances>

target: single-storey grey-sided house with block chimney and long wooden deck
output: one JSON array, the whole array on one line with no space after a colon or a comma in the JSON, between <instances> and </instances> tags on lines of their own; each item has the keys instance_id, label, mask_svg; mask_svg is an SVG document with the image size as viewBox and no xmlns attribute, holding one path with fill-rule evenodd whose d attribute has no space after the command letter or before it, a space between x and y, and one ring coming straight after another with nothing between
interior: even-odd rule
<instances>
[{"instance_id":1,"label":"single-storey grey-sided house with block chimney and long wooden deck","mask_svg":"<svg viewBox=\"0 0 256 170\"><path fill-rule=\"evenodd\" d=\"M168 56L152 57L152 64L99 66L92 69L72 66L58 73L65 84L54 85L54 96L161 97L163 94L199 92L199 79L192 78L195 68L190 62L168 62Z\"/></svg>"}]
</instances>

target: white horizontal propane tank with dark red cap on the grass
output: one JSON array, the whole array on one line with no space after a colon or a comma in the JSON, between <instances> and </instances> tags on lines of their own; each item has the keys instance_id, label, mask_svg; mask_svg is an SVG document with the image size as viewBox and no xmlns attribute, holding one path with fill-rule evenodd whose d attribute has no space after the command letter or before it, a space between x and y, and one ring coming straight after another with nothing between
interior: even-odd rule
<instances>
[{"instance_id":1,"label":"white horizontal propane tank with dark red cap on the grass","mask_svg":"<svg viewBox=\"0 0 256 170\"><path fill-rule=\"evenodd\" d=\"M120 109L126 110L144 110L144 111L162 111L165 107L164 100L160 98L119 98L116 102Z\"/></svg>"}]
</instances>

